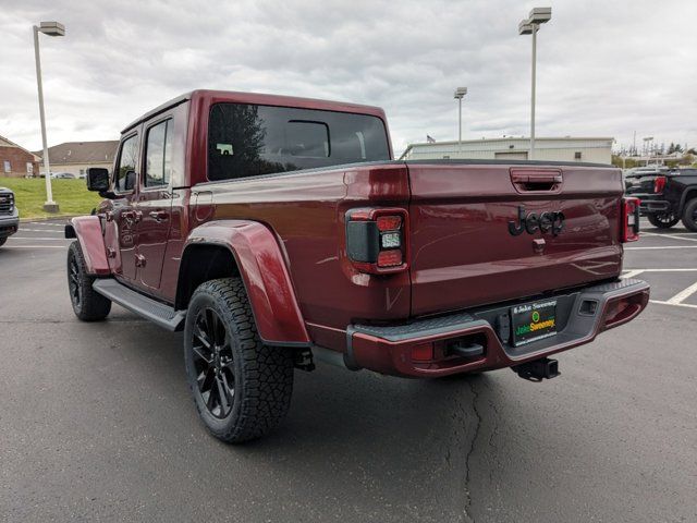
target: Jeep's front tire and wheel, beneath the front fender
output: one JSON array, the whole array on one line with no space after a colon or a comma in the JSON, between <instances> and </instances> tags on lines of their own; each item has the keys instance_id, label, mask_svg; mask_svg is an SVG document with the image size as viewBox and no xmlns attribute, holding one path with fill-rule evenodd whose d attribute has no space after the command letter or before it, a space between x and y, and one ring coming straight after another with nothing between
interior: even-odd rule
<instances>
[{"instance_id":1,"label":"Jeep's front tire and wheel, beneath the front fender","mask_svg":"<svg viewBox=\"0 0 697 523\"><path fill-rule=\"evenodd\" d=\"M68 290L73 312L83 321L99 321L111 312L111 300L96 292L95 277L86 272L85 257L75 241L68 247Z\"/></svg>"}]
</instances>

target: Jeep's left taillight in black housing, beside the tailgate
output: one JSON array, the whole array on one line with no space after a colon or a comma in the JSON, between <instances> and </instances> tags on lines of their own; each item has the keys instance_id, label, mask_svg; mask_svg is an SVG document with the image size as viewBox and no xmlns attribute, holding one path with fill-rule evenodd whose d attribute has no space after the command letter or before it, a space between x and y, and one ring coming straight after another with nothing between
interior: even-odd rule
<instances>
[{"instance_id":1,"label":"Jeep's left taillight in black housing, beside the tailgate","mask_svg":"<svg viewBox=\"0 0 697 523\"><path fill-rule=\"evenodd\" d=\"M346 254L362 272L383 275L408 268L408 214L400 208L353 209L346 214Z\"/></svg>"}]
</instances>

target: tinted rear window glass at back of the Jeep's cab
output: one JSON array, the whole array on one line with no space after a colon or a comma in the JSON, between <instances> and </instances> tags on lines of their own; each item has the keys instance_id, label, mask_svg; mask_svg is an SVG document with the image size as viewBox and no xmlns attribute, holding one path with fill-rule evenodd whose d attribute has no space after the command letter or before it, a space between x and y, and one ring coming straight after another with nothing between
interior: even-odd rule
<instances>
[{"instance_id":1,"label":"tinted rear window glass at back of the Jeep's cab","mask_svg":"<svg viewBox=\"0 0 697 523\"><path fill-rule=\"evenodd\" d=\"M209 180L389 159L377 117L248 104L210 109Z\"/></svg>"}]
</instances>

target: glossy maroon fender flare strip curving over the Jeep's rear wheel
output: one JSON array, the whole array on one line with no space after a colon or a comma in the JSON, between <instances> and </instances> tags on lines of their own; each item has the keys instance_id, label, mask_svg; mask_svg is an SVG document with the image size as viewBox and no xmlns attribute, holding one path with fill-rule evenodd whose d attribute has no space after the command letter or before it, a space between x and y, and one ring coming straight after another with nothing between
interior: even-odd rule
<instances>
[{"instance_id":1,"label":"glossy maroon fender flare strip curving over the Jeep's rear wheel","mask_svg":"<svg viewBox=\"0 0 697 523\"><path fill-rule=\"evenodd\" d=\"M283 254L266 226L246 220L206 222L191 232L182 257L196 244L230 250L265 343L289 346L310 343Z\"/></svg>"}]
</instances>

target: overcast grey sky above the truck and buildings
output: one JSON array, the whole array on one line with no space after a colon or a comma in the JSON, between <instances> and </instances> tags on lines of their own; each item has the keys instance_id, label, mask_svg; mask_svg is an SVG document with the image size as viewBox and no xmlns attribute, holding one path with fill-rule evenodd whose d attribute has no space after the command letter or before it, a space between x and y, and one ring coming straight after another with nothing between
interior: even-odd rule
<instances>
[{"instance_id":1,"label":"overcast grey sky above the truck and buildings","mask_svg":"<svg viewBox=\"0 0 697 523\"><path fill-rule=\"evenodd\" d=\"M49 146L117 139L125 124L194 88L347 100L386 109L408 143L529 134L529 36L538 34L538 136L636 131L697 145L695 0L0 0L0 135L41 137L32 24L41 35Z\"/></svg>"}]
</instances>

